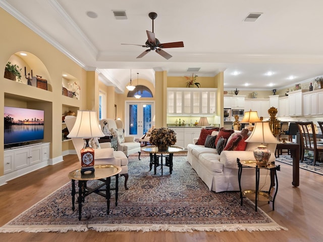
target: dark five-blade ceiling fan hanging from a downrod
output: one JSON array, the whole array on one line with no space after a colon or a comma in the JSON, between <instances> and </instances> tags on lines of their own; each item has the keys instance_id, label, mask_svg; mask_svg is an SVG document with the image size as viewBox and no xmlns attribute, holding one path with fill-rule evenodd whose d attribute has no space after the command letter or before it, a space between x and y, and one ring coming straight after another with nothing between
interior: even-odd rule
<instances>
[{"instance_id":1,"label":"dark five-blade ceiling fan hanging from a downrod","mask_svg":"<svg viewBox=\"0 0 323 242\"><path fill-rule=\"evenodd\" d=\"M152 20L152 32L146 30L147 33L147 41L145 43L145 45L141 45L141 44L128 44L128 45L138 45L138 46L142 46L144 48L149 48L146 49L145 51L143 51L141 54L139 54L137 56L137 58L141 58L144 55L146 55L150 50L155 50L158 54L160 54L161 56L163 56L166 59L169 59L172 57L172 55L170 55L169 53L167 53L165 50L163 50L163 48L177 48L177 47L184 47L184 43L183 41L179 41L179 42L170 42L170 43L160 43L159 40L157 38L155 38L155 34L153 32L153 20L155 18L157 18L157 14L156 13L149 13L148 14L149 18Z\"/></svg>"}]
</instances>

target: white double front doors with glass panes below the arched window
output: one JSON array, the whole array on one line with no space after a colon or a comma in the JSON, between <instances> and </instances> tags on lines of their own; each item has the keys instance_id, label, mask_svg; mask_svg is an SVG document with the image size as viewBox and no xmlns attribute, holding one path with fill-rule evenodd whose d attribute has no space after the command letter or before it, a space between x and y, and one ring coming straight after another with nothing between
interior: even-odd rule
<instances>
[{"instance_id":1,"label":"white double front doors with glass panes below the arched window","mask_svg":"<svg viewBox=\"0 0 323 242\"><path fill-rule=\"evenodd\" d=\"M153 126L154 113L152 101L126 101L126 135L138 139L142 137Z\"/></svg>"}]
</instances>

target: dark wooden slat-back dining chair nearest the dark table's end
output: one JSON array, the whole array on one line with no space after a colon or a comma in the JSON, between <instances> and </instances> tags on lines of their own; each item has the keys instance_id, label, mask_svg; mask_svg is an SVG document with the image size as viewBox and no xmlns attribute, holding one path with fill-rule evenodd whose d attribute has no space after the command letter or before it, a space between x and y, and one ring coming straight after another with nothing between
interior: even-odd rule
<instances>
[{"instance_id":1,"label":"dark wooden slat-back dining chair nearest the dark table's end","mask_svg":"<svg viewBox=\"0 0 323 242\"><path fill-rule=\"evenodd\" d=\"M316 160L319 160L318 153L323 152L323 145L317 144L314 124L313 122L296 122L296 125L302 145L301 162L304 160L305 150L308 150L313 152L313 165L315 165Z\"/></svg>"}]
</instances>

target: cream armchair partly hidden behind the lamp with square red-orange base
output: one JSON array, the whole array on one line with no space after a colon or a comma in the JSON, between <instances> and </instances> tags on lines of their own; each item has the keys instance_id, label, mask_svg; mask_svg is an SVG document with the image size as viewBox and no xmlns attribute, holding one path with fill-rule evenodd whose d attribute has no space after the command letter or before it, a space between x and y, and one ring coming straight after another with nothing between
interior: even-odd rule
<instances>
[{"instance_id":1,"label":"cream armchair partly hidden behind the lamp with square red-orange base","mask_svg":"<svg viewBox=\"0 0 323 242\"><path fill-rule=\"evenodd\" d=\"M67 115L65 116L65 124L70 132L75 124L76 116ZM72 138L74 148L76 150L79 162L81 162L81 149L84 146L84 140L81 138ZM128 190L128 158L122 151L115 151L111 148L111 143L100 143L93 142L92 148L95 149L94 158L95 164L111 164L118 165L122 168L120 176L125 177L125 189Z\"/></svg>"}]
</instances>

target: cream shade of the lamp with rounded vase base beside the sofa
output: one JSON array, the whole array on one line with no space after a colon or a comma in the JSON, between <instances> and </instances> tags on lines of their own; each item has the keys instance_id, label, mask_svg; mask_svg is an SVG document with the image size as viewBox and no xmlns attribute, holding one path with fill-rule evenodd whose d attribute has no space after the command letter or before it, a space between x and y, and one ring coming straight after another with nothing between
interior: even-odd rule
<instances>
[{"instance_id":1,"label":"cream shade of the lamp with rounded vase base beside the sofa","mask_svg":"<svg viewBox=\"0 0 323 242\"><path fill-rule=\"evenodd\" d=\"M251 135L245 142L278 144L278 140L273 135L268 122L256 122Z\"/></svg>"}]
</instances>

